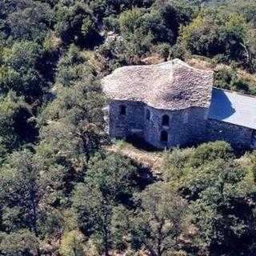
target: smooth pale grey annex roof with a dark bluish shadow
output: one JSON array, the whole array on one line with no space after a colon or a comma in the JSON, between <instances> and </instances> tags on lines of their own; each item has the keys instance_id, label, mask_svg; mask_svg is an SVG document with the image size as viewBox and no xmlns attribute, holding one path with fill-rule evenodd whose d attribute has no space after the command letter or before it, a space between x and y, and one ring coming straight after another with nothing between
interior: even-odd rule
<instances>
[{"instance_id":1,"label":"smooth pale grey annex roof with a dark bluish shadow","mask_svg":"<svg viewBox=\"0 0 256 256\"><path fill-rule=\"evenodd\" d=\"M214 88L208 118L256 130L256 97Z\"/></svg>"}]
</instances>

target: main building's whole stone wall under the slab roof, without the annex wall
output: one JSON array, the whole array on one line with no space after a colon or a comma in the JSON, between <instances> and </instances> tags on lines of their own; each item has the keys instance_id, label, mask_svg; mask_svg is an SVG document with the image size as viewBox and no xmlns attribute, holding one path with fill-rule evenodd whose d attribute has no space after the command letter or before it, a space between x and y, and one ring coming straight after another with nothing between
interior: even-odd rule
<instances>
[{"instance_id":1,"label":"main building's whole stone wall under the slab roof, without the annex wall","mask_svg":"<svg viewBox=\"0 0 256 256\"><path fill-rule=\"evenodd\" d=\"M121 107L126 114L121 114ZM150 117L146 117L147 110ZM204 140L206 134L207 110L190 108L187 110L157 110L142 102L113 101L109 106L110 137L127 138L137 136L158 148L184 146ZM168 115L169 126L162 126L162 117ZM166 130L167 142L161 141L161 132Z\"/></svg>"}]
</instances>

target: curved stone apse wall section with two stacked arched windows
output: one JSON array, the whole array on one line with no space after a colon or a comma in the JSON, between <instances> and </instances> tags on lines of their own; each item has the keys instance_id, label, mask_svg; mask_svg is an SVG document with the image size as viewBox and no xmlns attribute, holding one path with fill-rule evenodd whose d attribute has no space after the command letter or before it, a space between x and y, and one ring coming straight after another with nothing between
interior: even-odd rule
<instances>
[{"instance_id":1,"label":"curved stone apse wall section with two stacked arched windows","mask_svg":"<svg viewBox=\"0 0 256 256\"><path fill-rule=\"evenodd\" d=\"M207 110L202 108L189 108L186 110L150 110L150 120L145 121L145 139L155 147L165 148L172 146L185 146L190 143L203 141L206 134ZM169 126L162 126L162 117L170 118ZM161 132L166 130L168 141L161 141Z\"/></svg>"}]
</instances>

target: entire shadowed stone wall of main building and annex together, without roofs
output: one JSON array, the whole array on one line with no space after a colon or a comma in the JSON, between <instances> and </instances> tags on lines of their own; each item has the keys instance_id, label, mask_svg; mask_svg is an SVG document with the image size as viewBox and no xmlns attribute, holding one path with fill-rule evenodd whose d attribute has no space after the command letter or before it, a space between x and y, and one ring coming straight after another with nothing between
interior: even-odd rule
<instances>
[{"instance_id":1,"label":"entire shadowed stone wall of main building and annex together, without roofs","mask_svg":"<svg viewBox=\"0 0 256 256\"><path fill-rule=\"evenodd\" d=\"M125 114L121 114L122 106ZM154 109L142 102L113 101L108 110L112 138L138 137L160 149L216 140L236 148L250 148L252 143L253 130L207 119L208 110L204 108L171 111ZM169 126L162 125L164 115L169 117ZM168 134L166 142L161 140L164 130Z\"/></svg>"}]
</instances>

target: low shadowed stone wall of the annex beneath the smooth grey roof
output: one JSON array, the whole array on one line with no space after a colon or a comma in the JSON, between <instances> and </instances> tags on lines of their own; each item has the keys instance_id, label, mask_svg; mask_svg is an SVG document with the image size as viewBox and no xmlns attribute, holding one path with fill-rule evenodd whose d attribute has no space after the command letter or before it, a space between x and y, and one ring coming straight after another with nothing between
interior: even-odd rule
<instances>
[{"instance_id":1,"label":"low shadowed stone wall of the annex beneath the smooth grey roof","mask_svg":"<svg viewBox=\"0 0 256 256\"><path fill-rule=\"evenodd\" d=\"M250 128L211 119L207 121L206 127L208 141L223 140L241 149L249 149L252 146L253 130Z\"/></svg>"}]
</instances>

